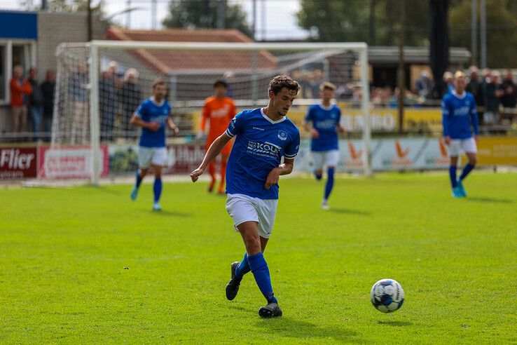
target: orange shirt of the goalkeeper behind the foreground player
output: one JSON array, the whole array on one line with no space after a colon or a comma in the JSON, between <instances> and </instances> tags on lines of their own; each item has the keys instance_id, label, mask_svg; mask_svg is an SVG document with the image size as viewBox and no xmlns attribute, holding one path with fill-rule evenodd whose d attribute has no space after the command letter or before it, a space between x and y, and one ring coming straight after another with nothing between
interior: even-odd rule
<instances>
[{"instance_id":1,"label":"orange shirt of the goalkeeper behind the foreground player","mask_svg":"<svg viewBox=\"0 0 517 345\"><path fill-rule=\"evenodd\" d=\"M201 119L201 130L205 131L207 119L210 121L208 131L207 145L209 146L214 140L223 134L228 128L228 124L235 116L237 108L230 97L217 98L215 96L208 97L203 106L203 116Z\"/></svg>"}]
</instances>

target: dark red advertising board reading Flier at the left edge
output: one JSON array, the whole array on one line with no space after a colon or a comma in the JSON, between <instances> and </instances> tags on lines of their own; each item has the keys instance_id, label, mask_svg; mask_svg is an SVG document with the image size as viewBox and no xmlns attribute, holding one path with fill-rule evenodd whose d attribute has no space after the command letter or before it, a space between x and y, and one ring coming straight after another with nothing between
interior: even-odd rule
<instances>
[{"instance_id":1,"label":"dark red advertising board reading Flier at the left edge","mask_svg":"<svg viewBox=\"0 0 517 345\"><path fill-rule=\"evenodd\" d=\"M0 180L37 176L36 147L0 148Z\"/></svg>"}]
</instances>

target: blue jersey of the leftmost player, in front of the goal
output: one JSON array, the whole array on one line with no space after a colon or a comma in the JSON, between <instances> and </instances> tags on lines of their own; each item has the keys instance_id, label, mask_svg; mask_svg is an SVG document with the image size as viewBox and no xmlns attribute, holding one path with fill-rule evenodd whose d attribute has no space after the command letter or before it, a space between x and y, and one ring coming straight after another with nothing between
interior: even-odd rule
<instances>
[{"instance_id":1,"label":"blue jersey of the leftmost player, in front of the goal","mask_svg":"<svg viewBox=\"0 0 517 345\"><path fill-rule=\"evenodd\" d=\"M161 104L154 101L153 97L142 102L135 114L146 122L158 122L160 128L153 132L147 128L142 128L139 145L143 147L165 147L165 124L170 114L169 102L163 100Z\"/></svg>"}]
</instances>

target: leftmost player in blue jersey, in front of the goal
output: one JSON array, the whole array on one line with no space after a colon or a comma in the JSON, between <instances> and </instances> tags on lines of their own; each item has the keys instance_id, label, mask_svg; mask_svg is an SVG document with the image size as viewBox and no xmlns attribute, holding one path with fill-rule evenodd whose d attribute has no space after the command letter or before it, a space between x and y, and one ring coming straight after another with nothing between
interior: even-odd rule
<instances>
[{"instance_id":1,"label":"leftmost player in blue jersey, in front of the goal","mask_svg":"<svg viewBox=\"0 0 517 345\"><path fill-rule=\"evenodd\" d=\"M176 135L178 128L170 118L171 106L165 100L167 87L165 81L156 80L153 83L153 97L144 100L131 117L133 126L142 127L140 135L138 166L135 185L131 189L131 199L136 200L142 180L149 168L154 171L154 203L153 210L161 211L160 196L162 195L162 169L167 163L167 146L165 144L165 125Z\"/></svg>"}]
</instances>

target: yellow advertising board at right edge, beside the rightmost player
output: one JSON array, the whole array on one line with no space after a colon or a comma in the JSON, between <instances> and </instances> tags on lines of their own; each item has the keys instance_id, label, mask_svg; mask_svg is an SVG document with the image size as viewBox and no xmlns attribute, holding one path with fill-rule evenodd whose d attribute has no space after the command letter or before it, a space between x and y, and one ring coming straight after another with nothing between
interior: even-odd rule
<instances>
[{"instance_id":1,"label":"yellow advertising board at right edge, beside the rightmost player","mask_svg":"<svg viewBox=\"0 0 517 345\"><path fill-rule=\"evenodd\" d=\"M517 137L480 137L478 161L481 165L517 165Z\"/></svg>"}]
</instances>

